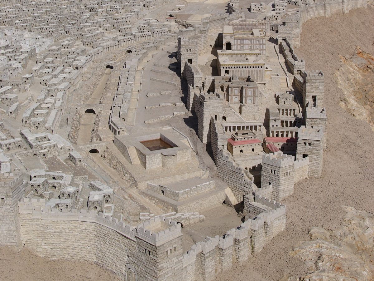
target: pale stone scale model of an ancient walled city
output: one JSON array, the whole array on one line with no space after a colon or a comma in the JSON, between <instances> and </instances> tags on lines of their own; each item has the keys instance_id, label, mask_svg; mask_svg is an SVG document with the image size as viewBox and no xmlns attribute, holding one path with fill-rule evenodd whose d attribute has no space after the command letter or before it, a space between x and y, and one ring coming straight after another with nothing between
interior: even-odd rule
<instances>
[{"instance_id":1,"label":"pale stone scale model of an ancient walled city","mask_svg":"<svg viewBox=\"0 0 374 281\"><path fill-rule=\"evenodd\" d=\"M1 247L215 280L293 231L283 199L328 149L301 30L366 0L1 6Z\"/></svg>"}]
</instances>

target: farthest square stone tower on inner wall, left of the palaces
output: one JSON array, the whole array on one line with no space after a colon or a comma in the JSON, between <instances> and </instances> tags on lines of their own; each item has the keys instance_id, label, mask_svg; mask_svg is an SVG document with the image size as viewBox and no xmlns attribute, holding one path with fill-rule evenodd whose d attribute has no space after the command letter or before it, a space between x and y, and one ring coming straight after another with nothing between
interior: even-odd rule
<instances>
[{"instance_id":1,"label":"farthest square stone tower on inner wall, left of the palaces","mask_svg":"<svg viewBox=\"0 0 374 281\"><path fill-rule=\"evenodd\" d=\"M186 77L186 63L197 66L197 40L178 37L177 59L181 64L181 77Z\"/></svg>"}]
</instances>

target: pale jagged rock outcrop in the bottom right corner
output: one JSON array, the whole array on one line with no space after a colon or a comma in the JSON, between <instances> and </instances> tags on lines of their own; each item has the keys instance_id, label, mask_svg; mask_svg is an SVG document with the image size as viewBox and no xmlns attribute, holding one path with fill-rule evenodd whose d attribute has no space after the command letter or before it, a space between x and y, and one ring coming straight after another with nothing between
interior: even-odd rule
<instances>
[{"instance_id":1,"label":"pale jagged rock outcrop in the bottom right corner","mask_svg":"<svg viewBox=\"0 0 374 281\"><path fill-rule=\"evenodd\" d=\"M309 231L312 240L290 251L309 270L300 280L373 279L374 215L352 207L344 209L347 214L340 229L312 227Z\"/></svg>"}]
</instances>

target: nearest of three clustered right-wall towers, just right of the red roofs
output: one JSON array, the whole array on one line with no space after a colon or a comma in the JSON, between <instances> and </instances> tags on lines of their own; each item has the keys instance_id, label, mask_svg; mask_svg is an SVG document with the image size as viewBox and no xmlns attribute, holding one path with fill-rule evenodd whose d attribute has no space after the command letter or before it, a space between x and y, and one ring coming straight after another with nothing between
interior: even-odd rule
<instances>
[{"instance_id":1,"label":"nearest of three clustered right-wall towers, just right of the red roofs","mask_svg":"<svg viewBox=\"0 0 374 281\"><path fill-rule=\"evenodd\" d=\"M324 152L323 129L301 126L297 134L296 159L309 157L309 176L319 178L322 173Z\"/></svg>"}]
</instances>

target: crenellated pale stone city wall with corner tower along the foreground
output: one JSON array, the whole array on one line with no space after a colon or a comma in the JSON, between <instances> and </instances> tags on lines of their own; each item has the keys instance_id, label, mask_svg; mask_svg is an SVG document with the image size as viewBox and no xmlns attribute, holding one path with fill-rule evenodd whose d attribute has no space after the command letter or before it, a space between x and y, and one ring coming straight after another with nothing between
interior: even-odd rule
<instances>
[{"instance_id":1,"label":"crenellated pale stone city wall with corner tower along the foreground","mask_svg":"<svg viewBox=\"0 0 374 281\"><path fill-rule=\"evenodd\" d=\"M178 214L158 216L132 227L96 211L45 208L44 199L18 203L19 238L41 256L97 263L125 280L132 273L138 280L214 280L218 272L244 262L283 229L284 205L261 196L255 200L275 209L258 214L257 219L245 221L224 236L207 237L186 254L180 224L170 220ZM201 219L189 214L178 219L183 217ZM164 230L156 233L151 229Z\"/></svg>"}]
</instances>

